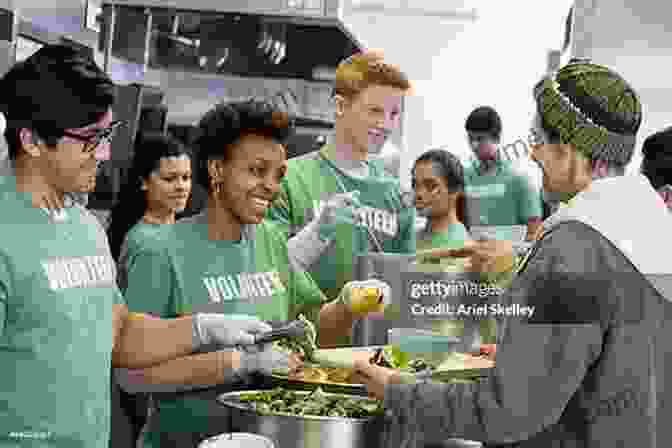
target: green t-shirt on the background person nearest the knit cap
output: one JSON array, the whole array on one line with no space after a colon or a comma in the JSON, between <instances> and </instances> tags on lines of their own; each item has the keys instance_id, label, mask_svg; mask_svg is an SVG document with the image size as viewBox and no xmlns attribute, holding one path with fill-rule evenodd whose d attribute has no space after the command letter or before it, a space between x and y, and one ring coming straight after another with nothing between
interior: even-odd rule
<instances>
[{"instance_id":1,"label":"green t-shirt on the background person nearest the knit cap","mask_svg":"<svg viewBox=\"0 0 672 448\"><path fill-rule=\"evenodd\" d=\"M490 175L481 175L474 163L465 168L464 180L470 226L527 225L542 217L541 192L508 162L498 162Z\"/></svg>"}]
</instances>

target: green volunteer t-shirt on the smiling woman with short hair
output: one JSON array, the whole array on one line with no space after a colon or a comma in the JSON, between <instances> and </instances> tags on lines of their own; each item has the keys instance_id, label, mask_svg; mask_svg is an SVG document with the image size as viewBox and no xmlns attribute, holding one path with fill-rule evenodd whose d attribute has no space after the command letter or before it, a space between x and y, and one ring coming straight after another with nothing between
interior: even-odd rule
<instances>
[{"instance_id":1,"label":"green volunteer t-shirt on the smiling woman with short hair","mask_svg":"<svg viewBox=\"0 0 672 448\"><path fill-rule=\"evenodd\" d=\"M165 226L145 240L129 266L129 310L164 318L214 312L287 321L293 310L324 302L308 275L290 269L287 242L272 222L246 226L244 235L237 242L209 239L205 214ZM153 445L162 431L205 432L217 423L212 397L186 394L158 400L157 408L148 434Z\"/></svg>"}]
</instances>

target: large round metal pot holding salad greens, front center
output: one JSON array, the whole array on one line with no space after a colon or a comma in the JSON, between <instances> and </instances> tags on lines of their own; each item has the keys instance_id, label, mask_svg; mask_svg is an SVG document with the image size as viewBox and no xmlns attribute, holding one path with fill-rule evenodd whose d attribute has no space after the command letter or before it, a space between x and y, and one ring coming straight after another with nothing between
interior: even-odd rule
<instances>
[{"instance_id":1,"label":"large round metal pot holding salad greens, front center","mask_svg":"<svg viewBox=\"0 0 672 448\"><path fill-rule=\"evenodd\" d=\"M261 415L241 403L240 395L255 391L230 392L218 401L231 412L232 431L261 434L273 441L276 448L382 448L385 421L383 417L348 419L290 415ZM297 392L308 395L310 392ZM354 399L350 395L328 394Z\"/></svg>"}]
</instances>

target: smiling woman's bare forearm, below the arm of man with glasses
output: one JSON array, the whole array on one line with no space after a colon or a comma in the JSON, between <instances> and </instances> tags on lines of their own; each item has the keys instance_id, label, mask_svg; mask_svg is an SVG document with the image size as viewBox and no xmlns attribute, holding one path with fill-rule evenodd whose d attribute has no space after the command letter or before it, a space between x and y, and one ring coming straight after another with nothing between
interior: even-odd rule
<instances>
[{"instance_id":1,"label":"smiling woman's bare forearm, below the arm of man with glasses","mask_svg":"<svg viewBox=\"0 0 672 448\"><path fill-rule=\"evenodd\" d=\"M130 393L178 392L231 381L240 369L240 352L217 351L186 356L147 369L115 371L119 385Z\"/></svg>"}]
</instances>

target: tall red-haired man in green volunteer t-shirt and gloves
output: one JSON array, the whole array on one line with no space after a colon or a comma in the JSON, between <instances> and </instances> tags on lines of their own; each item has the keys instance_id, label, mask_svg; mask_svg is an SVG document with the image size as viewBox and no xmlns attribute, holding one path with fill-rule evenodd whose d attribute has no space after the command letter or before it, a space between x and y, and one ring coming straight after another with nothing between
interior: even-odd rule
<instances>
[{"instance_id":1,"label":"tall red-haired man in green volunteer t-shirt and gloves","mask_svg":"<svg viewBox=\"0 0 672 448\"><path fill-rule=\"evenodd\" d=\"M334 141L289 160L280 195L269 210L287 231L295 268L309 271L330 300L355 280L358 254L415 252L415 210L404 206L398 180L375 158L398 127L402 98L410 88L406 75L374 52L339 64ZM352 314L333 322L321 319L320 345L349 344L328 340L325 335L336 332L325 327L337 329L352 319Z\"/></svg>"}]
</instances>

